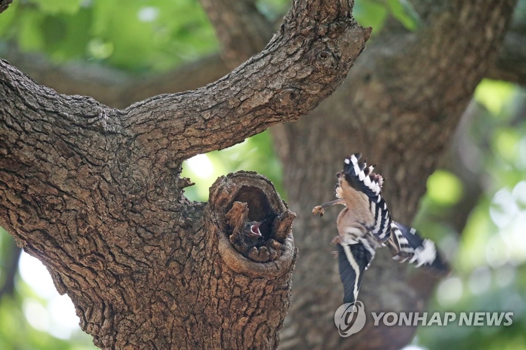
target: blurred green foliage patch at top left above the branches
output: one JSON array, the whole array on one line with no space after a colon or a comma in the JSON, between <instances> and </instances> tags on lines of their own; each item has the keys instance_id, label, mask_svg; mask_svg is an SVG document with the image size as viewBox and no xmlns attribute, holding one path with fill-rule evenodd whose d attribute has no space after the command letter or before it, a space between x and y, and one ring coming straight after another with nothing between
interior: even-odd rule
<instances>
[{"instance_id":1,"label":"blurred green foliage patch at top left above the branches","mask_svg":"<svg viewBox=\"0 0 526 350\"><path fill-rule=\"evenodd\" d=\"M157 72L218 48L195 0L38 0L12 7L2 14L2 38L16 39L24 51L40 50L55 63L85 58Z\"/></svg>"}]
</instances>

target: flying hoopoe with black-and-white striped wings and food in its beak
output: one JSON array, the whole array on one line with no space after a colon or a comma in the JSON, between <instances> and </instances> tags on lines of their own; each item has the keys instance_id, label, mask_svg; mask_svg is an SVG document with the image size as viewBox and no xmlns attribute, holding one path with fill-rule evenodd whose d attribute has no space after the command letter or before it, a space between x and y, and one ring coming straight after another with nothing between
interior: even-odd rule
<instances>
[{"instance_id":1,"label":"flying hoopoe with black-and-white striped wings and food in its beak","mask_svg":"<svg viewBox=\"0 0 526 350\"><path fill-rule=\"evenodd\" d=\"M344 303L356 301L363 271L379 246L387 246L394 260L449 271L431 240L422 239L417 230L391 219L381 195L383 178L372 172L376 164L367 167L360 158L360 153L350 155L343 161L343 170L336 174L338 199L312 209L313 214L322 216L330 205L345 205L336 220L338 236L332 240L338 248Z\"/></svg>"}]
</instances>

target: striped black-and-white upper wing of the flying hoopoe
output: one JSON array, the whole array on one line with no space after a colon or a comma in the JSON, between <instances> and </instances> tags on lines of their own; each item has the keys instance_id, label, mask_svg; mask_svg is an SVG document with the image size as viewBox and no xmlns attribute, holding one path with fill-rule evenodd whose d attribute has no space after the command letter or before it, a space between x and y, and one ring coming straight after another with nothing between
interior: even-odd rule
<instances>
[{"instance_id":1,"label":"striped black-and-white upper wing of the flying hoopoe","mask_svg":"<svg viewBox=\"0 0 526 350\"><path fill-rule=\"evenodd\" d=\"M383 179L381 175L372 172L374 166L367 167L365 161L359 161L360 158L361 155L357 153L343 161L343 179L340 176L340 186L344 190L344 195L348 184L350 188L360 192L362 197L367 199L373 218L372 225L367 229L379 242L385 242L390 236L391 214L386 201L381 196Z\"/></svg>"}]
</instances>

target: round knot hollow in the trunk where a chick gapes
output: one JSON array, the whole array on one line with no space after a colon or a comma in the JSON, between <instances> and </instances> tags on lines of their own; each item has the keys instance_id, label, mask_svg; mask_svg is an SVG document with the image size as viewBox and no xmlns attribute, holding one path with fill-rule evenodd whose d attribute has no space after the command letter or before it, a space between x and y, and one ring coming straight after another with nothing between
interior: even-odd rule
<instances>
[{"instance_id":1,"label":"round knot hollow in the trunk where a chick gapes","mask_svg":"<svg viewBox=\"0 0 526 350\"><path fill-rule=\"evenodd\" d=\"M296 214L267 178L249 172L228 174L212 185L209 202L219 253L230 269L251 276L290 271Z\"/></svg>"}]
</instances>

